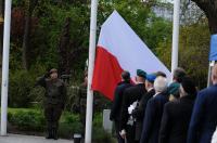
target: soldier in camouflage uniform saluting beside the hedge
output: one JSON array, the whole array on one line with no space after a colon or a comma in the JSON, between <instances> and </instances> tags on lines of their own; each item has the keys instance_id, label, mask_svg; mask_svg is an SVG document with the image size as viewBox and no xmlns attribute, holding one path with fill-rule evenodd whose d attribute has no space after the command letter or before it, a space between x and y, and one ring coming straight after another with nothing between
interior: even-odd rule
<instances>
[{"instance_id":1,"label":"soldier in camouflage uniform saluting beside the hedge","mask_svg":"<svg viewBox=\"0 0 217 143\"><path fill-rule=\"evenodd\" d=\"M66 102L66 86L58 78L58 70L51 69L37 81L37 86L46 89L44 116L47 120L47 139L58 140L59 120Z\"/></svg>"}]
</instances>

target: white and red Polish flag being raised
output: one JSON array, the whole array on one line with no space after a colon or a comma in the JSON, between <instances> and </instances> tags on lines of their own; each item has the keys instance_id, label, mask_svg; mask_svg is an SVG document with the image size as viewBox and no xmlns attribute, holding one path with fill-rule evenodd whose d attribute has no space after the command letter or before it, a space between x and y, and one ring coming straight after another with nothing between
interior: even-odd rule
<instances>
[{"instance_id":1,"label":"white and red Polish flag being raised","mask_svg":"<svg viewBox=\"0 0 217 143\"><path fill-rule=\"evenodd\" d=\"M123 70L131 77L137 69L148 74L164 72L168 79L170 72L137 36L125 20L114 11L102 25L92 79L92 90L113 100L114 90L122 80Z\"/></svg>"}]
</instances>

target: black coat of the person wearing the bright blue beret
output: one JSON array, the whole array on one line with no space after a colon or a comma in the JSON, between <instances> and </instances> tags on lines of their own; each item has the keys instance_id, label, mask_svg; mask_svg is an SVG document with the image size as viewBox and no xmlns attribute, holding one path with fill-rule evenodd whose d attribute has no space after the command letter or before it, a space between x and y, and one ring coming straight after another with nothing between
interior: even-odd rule
<instances>
[{"instance_id":1,"label":"black coat of the person wearing the bright blue beret","mask_svg":"<svg viewBox=\"0 0 217 143\"><path fill-rule=\"evenodd\" d=\"M142 125L148 101L155 94L155 90L152 89L146 92L139 102L139 106L132 112L133 118L136 118L136 140L139 141L142 133Z\"/></svg>"}]
</instances>

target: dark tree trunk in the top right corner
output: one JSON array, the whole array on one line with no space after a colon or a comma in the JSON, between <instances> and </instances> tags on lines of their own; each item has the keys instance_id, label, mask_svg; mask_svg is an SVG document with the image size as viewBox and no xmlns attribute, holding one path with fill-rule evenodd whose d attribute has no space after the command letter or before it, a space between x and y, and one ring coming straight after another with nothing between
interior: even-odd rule
<instances>
[{"instance_id":1,"label":"dark tree trunk in the top right corner","mask_svg":"<svg viewBox=\"0 0 217 143\"><path fill-rule=\"evenodd\" d=\"M201 8L208 18L209 31L217 34L217 0L192 0Z\"/></svg>"}]
</instances>

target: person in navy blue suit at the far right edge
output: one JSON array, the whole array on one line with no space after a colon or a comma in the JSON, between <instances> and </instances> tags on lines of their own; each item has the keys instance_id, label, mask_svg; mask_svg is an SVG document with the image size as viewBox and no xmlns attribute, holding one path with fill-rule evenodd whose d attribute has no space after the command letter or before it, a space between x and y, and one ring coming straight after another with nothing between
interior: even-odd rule
<instances>
[{"instance_id":1,"label":"person in navy blue suit at the far right edge","mask_svg":"<svg viewBox=\"0 0 217 143\"><path fill-rule=\"evenodd\" d=\"M212 70L212 82L199 92L189 126L188 143L210 143L217 126L217 65Z\"/></svg>"}]
</instances>

